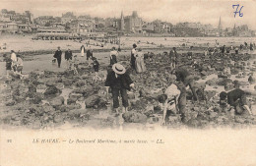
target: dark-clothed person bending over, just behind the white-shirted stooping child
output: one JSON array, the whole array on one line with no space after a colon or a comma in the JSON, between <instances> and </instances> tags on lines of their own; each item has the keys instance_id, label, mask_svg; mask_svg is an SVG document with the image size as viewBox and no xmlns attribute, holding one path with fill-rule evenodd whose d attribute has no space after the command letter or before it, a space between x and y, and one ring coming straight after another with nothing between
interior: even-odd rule
<instances>
[{"instance_id":1,"label":"dark-clothed person bending over, just behind the white-shirted stooping child","mask_svg":"<svg viewBox=\"0 0 256 166\"><path fill-rule=\"evenodd\" d=\"M195 82L194 82L194 77L188 72L187 69L183 68L178 68L174 71L176 75L176 81L178 82L178 88L180 90L180 96L178 98L178 108L179 112L181 114L181 120L183 122L186 122L186 93L187 89L186 87L189 85L192 93L194 100L198 101L198 96L195 90Z\"/></svg>"}]
</instances>

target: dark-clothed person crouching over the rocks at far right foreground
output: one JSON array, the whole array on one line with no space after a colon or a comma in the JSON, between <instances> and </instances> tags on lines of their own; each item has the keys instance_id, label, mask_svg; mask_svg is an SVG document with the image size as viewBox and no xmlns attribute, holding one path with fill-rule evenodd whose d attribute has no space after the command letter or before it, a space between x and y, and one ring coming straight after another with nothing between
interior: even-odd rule
<instances>
[{"instance_id":1,"label":"dark-clothed person crouching over the rocks at far right foreground","mask_svg":"<svg viewBox=\"0 0 256 166\"><path fill-rule=\"evenodd\" d=\"M248 102L246 95L251 95L253 93L240 89L240 84L238 82L234 82L234 87L235 89L227 93L225 91L221 92L220 103L223 104L227 99L227 104L234 108L236 114L241 115L247 111L249 115L252 115L250 103Z\"/></svg>"}]
</instances>

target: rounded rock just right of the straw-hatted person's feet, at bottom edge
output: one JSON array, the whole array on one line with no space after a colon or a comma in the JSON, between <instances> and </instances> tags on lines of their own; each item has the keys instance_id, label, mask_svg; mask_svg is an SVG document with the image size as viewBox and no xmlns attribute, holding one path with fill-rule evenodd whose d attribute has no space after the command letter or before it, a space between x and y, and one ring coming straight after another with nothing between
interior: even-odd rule
<instances>
[{"instance_id":1,"label":"rounded rock just right of the straw-hatted person's feet, at bottom edge","mask_svg":"<svg viewBox=\"0 0 256 166\"><path fill-rule=\"evenodd\" d=\"M125 122L129 123L146 123L147 116L138 112L129 111L122 115Z\"/></svg>"}]
</instances>

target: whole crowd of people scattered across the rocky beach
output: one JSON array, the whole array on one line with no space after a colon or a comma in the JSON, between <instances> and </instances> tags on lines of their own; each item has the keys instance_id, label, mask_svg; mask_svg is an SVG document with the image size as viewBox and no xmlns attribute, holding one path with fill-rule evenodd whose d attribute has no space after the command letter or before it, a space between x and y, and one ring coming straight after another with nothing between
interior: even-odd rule
<instances>
[{"instance_id":1,"label":"whole crowd of people scattered across the rocky beach","mask_svg":"<svg viewBox=\"0 0 256 166\"><path fill-rule=\"evenodd\" d=\"M218 43L219 46L219 43ZM219 46L215 48L208 48L205 50L205 56L214 56L217 53L222 53L223 56L226 54L229 54L230 50L233 50L235 54L238 54L238 51L241 49L249 49L253 50L255 45L252 43L245 44L244 46L238 47L226 47ZM192 49L192 48L191 48ZM81 46L81 57L87 56L87 60L92 60L92 66L94 68L94 71L96 73L96 80L99 79L98 77L98 71L99 71L99 63L94 57L93 50L91 47L86 50L85 46ZM175 76L175 81L172 83L168 83L168 87L163 90L163 93L158 97L158 101L160 102L163 110L163 116L162 116L162 124L165 124L166 120L166 112L171 111L176 114L181 115L182 122L186 122L186 107L187 107L187 90L188 88L191 89L193 94L193 102L197 102L199 100L198 94L196 92L196 84L194 76L190 73L190 69L187 66L182 66L178 63L179 55L177 53L177 50L175 47L173 47L169 53L167 53L169 57L169 67L170 71L169 73L173 76ZM112 93L112 99L113 99L113 112L118 114L118 108L119 108L119 97L122 98L122 105L123 110L128 111L128 94L127 91L135 89L135 84L132 81L131 77L127 73L127 70L123 65L118 63L118 56L119 51L116 50L115 47L112 47L110 50L110 58L109 58L109 71L107 72L105 86L110 87L110 91ZM53 62L57 61L58 68L61 66L61 60L62 60L62 51L60 47L55 51ZM73 70L74 74L78 74L76 69L76 61L77 61L77 55L73 56L73 53L70 49L65 51L65 61L66 66L68 70ZM144 54L141 48L137 48L136 44L132 45L131 49L131 56L130 56L130 67L131 70L134 71L133 74L137 74L141 77L147 69L145 65L145 59L150 58L150 61L152 61L153 56L151 53ZM192 53L187 53L187 58L192 58ZM7 75L9 71L13 71L18 74L22 74L23 71L23 60L22 57L17 54L15 51L11 51L10 56L5 55L5 61L6 61L6 70ZM194 61L194 64L191 66L194 69L197 68L197 62ZM230 75L230 69L224 68L224 75ZM157 79L157 78L156 78ZM248 113L249 115L252 115L251 106L248 102L246 96L249 95L255 95L252 91L245 91L239 88L239 83L234 82L234 89L230 91L223 91L220 93L220 106L224 110L230 110L230 108L233 108L235 110L236 114L243 114Z\"/></svg>"}]
</instances>

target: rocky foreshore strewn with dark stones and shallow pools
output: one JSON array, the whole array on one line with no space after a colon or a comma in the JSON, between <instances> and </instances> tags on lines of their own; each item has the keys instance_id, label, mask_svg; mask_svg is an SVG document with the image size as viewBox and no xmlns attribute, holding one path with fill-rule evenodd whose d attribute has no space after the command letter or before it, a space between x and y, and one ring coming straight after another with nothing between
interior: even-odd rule
<instances>
[{"instance_id":1,"label":"rocky foreshore strewn with dark stones and shallow pools","mask_svg":"<svg viewBox=\"0 0 256 166\"><path fill-rule=\"evenodd\" d=\"M219 94L222 89L233 88L234 79L231 78L248 80L248 75L256 69L255 55L228 54L222 57L220 53L209 57L203 53L194 53L191 60L186 56L186 53L179 54L178 63L189 67L193 59L196 59L199 65L196 70L191 68L191 73L197 81L200 101L193 102L192 93L188 91L188 121L183 124L179 114L169 114L166 126L169 128L254 126L255 117L235 115L233 110L224 111L219 105ZM143 124L145 127L160 126L162 110L158 96L162 94L162 88L175 80L175 77L169 73L168 56L160 53L154 55L153 61L146 59L147 72L141 77L129 69L129 57L120 56L118 61L127 68L136 84L136 90L128 93L129 112L122 114L121 117L109 114L111 108L104 88L107 66L100 66L101 79L95 82L93 69L88 63L80 62L78 75L67 70L33 71L22 79L14 74L10 77L2 77L1 125L30 129L59 128L65 124L94 128L115 128L131 123ZM224 64L227 64L231 71L231 76L228 78L218 77L220 71L224 70ZM248 85L247 81L239 80L239 82L244 86ZM253 106L255 99L255 97L251 98Z\"/></svg>"}]
</instances>

